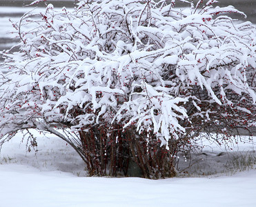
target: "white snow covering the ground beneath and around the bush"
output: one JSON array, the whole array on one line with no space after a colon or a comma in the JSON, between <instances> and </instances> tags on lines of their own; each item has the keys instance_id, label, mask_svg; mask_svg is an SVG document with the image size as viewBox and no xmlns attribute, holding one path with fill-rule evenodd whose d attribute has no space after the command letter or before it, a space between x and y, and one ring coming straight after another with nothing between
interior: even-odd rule
<instances>
[{"instance_id":1,"label":"white snow covering the ground beneath and around the bush","mask_svg":"<svg viewBox=\"0 0 256 207\"><path fill-rule=\"evenodd\" d=\"M61 139L37 134L37 141L36 155L21 135L3 145L0 206L256 206L255 168L158 180L86 177L83 161ZM211 145L211 153L224 150ZM240 145L243 152L253 147Z\"/></svg>"}]
</instances>

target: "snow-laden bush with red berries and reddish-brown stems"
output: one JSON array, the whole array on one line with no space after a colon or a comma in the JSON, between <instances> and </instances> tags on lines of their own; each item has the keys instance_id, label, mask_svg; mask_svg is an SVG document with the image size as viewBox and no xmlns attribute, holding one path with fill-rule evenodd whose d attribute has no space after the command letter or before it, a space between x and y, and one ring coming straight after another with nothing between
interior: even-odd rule
<instances>
[{"instance_id":1,"label":"snow-laden bush with red berries and reddish-brown stems","mask_svg":"<svg viewBox=\"0 0 256 207\"><path fill-rule=\"evenodd\" d=\"M175 175L175 155L200 132L230 141L255 126L256 31L213 7L172 1L79 1L28 12L3 52L0 135L51 132L90 175ZM242 13L241 13L242 14ZM35 139L30 137L32 145Z\"/></svg>"}]
</instances>

